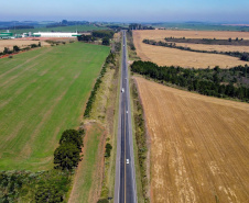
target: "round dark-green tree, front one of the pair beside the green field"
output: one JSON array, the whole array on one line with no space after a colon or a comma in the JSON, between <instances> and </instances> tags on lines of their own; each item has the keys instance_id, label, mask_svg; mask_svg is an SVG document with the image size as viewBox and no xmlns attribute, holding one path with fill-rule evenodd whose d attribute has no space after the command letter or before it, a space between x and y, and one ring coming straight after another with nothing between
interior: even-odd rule
<instances>
[{"instance_id":1,"label":"round dark-green tree, front one of the pair beside the green field","mask_svg":"<svg viewBox=\"0 0 249 203\"><path fill-rule=\"evenodd\" d=\"M55 168L62 170L72 170L78 166L82 160L80 149L72 143L64 143L54 151Z\"/></svg>"}]
</instances>

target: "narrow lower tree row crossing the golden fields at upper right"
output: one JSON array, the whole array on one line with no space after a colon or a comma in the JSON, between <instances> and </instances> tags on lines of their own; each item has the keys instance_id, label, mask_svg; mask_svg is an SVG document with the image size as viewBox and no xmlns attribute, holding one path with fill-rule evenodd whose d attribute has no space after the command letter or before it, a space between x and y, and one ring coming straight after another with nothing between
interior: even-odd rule
<instances>
[{"instance_id":1,"label":"narrow lower tree row crossing the golden fields at upper right","mask_svg":"<svg viewBox=\"0 0 249 203\"><path fill-rule=\"evenodd\" d=\"M238 57L241 60L249 61L249 53L240 53L240 52L218 52L218 50L198 50L198 49L193 49L191 47L185 47L185 46L177 46L175 43L163 43L163 42L156 42L153 40L143 40L143 43L150 44L150 45L155 45L155 46L165 46L170 48L177 48L181 50L188 50L188 52L195 52L195 53L208 53L208 54L224 54L228 56L234 56Z\"/></svg>"}]
</instances>

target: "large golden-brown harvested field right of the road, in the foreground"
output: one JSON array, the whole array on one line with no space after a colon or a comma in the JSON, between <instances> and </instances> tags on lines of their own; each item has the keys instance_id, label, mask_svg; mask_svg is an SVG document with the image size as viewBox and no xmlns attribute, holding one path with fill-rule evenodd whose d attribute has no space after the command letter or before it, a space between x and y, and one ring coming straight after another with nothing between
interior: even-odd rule
<instances>
[{"instance_id":1,"label":"large golden-brown harvested field right of the road, in the foreground","mask_svg":"<svg viewBox=\"0 0 249 203\"><path fill-rule=\"evenodd\" d=\"M248 202L249 104L136 81L150 137L152 202Z\"/></svg>"}]
</instances>

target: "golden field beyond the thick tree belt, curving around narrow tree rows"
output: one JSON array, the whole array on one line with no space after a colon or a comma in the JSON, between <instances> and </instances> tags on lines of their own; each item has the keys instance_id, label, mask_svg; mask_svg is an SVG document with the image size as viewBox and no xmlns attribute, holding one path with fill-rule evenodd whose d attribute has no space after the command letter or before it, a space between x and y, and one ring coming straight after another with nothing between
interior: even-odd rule
<instances>
[{"instance_id":1,"label":"golden field beyond the thick tree belt, curving around narrow tree rows","mask_svg":"<svg viewBox=\"0 0 249 203\"><path fill-rule=\"evenodd\" d=\"M155 31L133 31L133 42L134 42L138 56L142 60L151 60L153 63L156 63L160 66L173 65L173 66L182 66L186 68L192 68L192 67L213 68L215 66L219 66L220 68L230 68L234 66L248 64L247 61L242 61L239 58L230 57L226 55L186 52L186 50L180 50L176 48L153 46L153 45L148 45L142 43L144 38L162 40L166 36L172 36L169 33L173 34L174 32L176 31L156 31L156 30ZM190 31L177 31L176 32L177 35L174 35L175 37L180 37L178 32L183 32L184 34L185 32L190 32ZM190 33L192 33L193 35L194 34L193 32L194 31L191 31ZM166 33L169 35L166 35ZM204 33L207 33L207 34L217 33L217 36L219 35L221 37L221 34L219 33L224 33L225 35L226 33L239 33L239 32L204 32ZM241 36L242 35L245 35L245 33L241 32ZM204 34L202 34L202 36L204 37ZM186 36L186 37L193 37L193 36ZM249 33L248 33L248 37L249 37Z\"/></svg>"}]
</instances>

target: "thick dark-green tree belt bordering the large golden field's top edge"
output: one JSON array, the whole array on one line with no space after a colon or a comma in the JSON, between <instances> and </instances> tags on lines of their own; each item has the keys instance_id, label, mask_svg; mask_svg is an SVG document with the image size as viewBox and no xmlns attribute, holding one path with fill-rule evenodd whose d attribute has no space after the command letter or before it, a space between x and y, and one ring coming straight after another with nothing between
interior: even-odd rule
<instances>
[{"instance_id":1,"label":"thick dark-green tree belt bordering the large golden field's top edge","mask_svg":"<svg viewBox=\"0 0 249 203\"><path fill-rule=\"evenodd\" d=\"M249 67L245 66L243 68L249 76ZM239 68L232 68L230 71L236 71L237 69ZM228 84L220 82L219 72L221 70L218 67L214 70L196 70L174 66L158 66L151 61L139 60L132 64L131 70L156 80L184 87L190 91L197 91L205 95L229 97L246 102L249 101L249 88L245 86L235 87L231 82Z\"/></svg>"}]
</instances>

